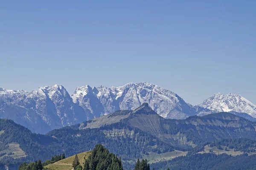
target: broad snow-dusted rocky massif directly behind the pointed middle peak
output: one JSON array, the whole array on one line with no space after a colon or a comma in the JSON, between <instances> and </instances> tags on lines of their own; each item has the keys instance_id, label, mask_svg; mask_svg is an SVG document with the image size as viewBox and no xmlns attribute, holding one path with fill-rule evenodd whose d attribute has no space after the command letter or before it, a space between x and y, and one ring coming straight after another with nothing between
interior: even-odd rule
<instances>
[{"instance_id":1,"label":"broad snow-dusted rocky massif directly behind the pointed middle peak","mask_svg":"<svg viewBox=\"0 0 256 170\"><path fill-rule=\"evenodd\" d=\"M90 90L89 90L90 89ZM160 116L168 119L185 119L197 114L197 109L180 96L149 83L128 83L121 87L77 88L71 96L73 102L90 110L95 117L118 110L134 110L147 102ZM92 107L92 106L97 107ZM201 108L201 112L211 112Z\"/></svg>"}]
</instances>

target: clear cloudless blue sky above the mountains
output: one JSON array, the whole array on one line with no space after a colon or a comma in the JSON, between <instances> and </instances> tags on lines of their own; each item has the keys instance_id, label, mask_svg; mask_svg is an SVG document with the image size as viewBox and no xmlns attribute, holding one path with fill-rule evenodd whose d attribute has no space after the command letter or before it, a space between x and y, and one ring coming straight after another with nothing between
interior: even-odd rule
<instances>
[{"instance_id":1,"label":"clear cloudless blue sky above the mountains","mask_svg":"<svg viewBox=\"0 0 256 170\"><path fill-rule=\"evenodd\" d=\"M149 82L256 104L256 0L1 0L0 87Z\"/></svg>"}]
</instances>

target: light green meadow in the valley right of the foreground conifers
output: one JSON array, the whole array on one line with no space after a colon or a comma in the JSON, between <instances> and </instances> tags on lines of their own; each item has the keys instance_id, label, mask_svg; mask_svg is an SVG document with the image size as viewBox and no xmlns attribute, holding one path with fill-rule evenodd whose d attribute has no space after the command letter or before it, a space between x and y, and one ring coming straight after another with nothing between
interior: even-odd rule
<instances>
[{"instance_id":1,"label":"light green meadow in the valley right of the foreground conifers","mask_svg":"<svg viewBox=\"0 0 256 170\"><path fill-rule=\"evenodd\" d=\"M186 156L188 152L183 152L180 150L174 150L172 152L166 153L149 153L149 155L144 155L143 159L147 159L149 163L155 163L163 160L169 160L178 156Z\"/></svg>"}]
</instances>

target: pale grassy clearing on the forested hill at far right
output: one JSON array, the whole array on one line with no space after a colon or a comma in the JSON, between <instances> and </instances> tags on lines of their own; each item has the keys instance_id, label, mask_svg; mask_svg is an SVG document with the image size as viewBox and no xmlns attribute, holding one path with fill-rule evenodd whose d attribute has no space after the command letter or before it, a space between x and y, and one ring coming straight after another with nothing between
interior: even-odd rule
<instances>
[{"instance_id":1,"label":"pale grassy clearing on the forested hill at far right","mask_svg":"<svg viewBox=\"0 0 256 170\"><path fill-rule=\"evenodd\" d=\"M198 153L209 153L210 150L212 150L212 153L215 154L222 154L222 153L227 153L228 155L232 155L232 156L237 156L237 155L241 155L244 152L242 151L235 151L235 149L230 149L228 148L228 150L224 150L225 146L221 146L223 148L223 150L218 149L217 147L209 147L208 145L204 146L204 151L198 152ZM253 155L256 154L256 152L250 152L248 153L248 155Z\"/></svg>"}]
</instances>

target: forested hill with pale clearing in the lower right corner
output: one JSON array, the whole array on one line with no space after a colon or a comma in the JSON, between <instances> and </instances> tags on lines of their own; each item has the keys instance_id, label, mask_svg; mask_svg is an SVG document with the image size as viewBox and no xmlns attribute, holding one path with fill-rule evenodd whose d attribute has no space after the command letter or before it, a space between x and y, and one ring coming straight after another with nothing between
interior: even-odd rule
<instances>
[{"instance_id":1,"label":"forested hill with pale clearing in the lower right corner","mask_svg":"<svg viewBox=\"0 0 256 170\"><path fill-rule=\"evenodd\" d=\"M256 141L221 139L197 146L186 156L151 164L156 170L254 170Z\"/></svg>"}]
</instances>

